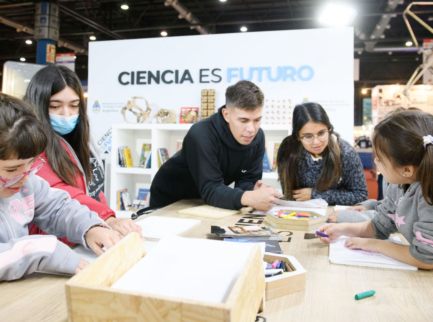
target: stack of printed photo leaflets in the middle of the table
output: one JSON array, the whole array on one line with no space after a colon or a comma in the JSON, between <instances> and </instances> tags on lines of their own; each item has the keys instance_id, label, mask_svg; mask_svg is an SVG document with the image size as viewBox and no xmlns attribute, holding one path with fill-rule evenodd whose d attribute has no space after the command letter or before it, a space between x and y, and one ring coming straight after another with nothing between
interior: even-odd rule
<instances>
[{"instance_id":1,"label":"stack of printed photo leaflets in the middle of the table","mask_svg":"<svg viewBox=\"0 0 433 322\"><path fill-rule=\"evenodd\" d=\"M210 226L210 233L226 238L284 239L283 236L278 235L271 228L260 226Z\"/></svg>"}]
</instances>

